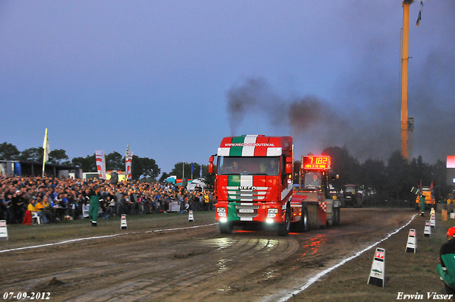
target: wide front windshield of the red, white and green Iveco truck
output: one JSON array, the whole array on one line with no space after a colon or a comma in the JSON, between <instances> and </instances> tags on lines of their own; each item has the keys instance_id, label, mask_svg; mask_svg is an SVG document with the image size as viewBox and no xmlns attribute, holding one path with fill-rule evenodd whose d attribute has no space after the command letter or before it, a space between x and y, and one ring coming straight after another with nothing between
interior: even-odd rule
<instances>
[{"instance_id":1,"label":"wide front windshield of the red, white and green Iveco truck","mask_svg":"<svg viewBox=\"0 0 455 302\"><path fill-rule=\"evenodd\" d=\"M218 175L268 175L280 174L280 156L218 156Z\"/></svg>"}]
</instances>

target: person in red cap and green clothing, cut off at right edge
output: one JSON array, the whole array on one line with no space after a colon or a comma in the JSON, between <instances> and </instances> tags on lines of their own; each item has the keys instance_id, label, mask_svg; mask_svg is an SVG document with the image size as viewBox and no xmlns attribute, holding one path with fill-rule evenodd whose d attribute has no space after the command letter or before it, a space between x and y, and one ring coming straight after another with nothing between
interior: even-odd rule
<instances>
[{"instance_id":1,"label":"person in red cap and green clothing, cut off at right edge","mask_svg":"<svg viewBox=\"0 0 455 302\"><path fill-rule=\"evenodd\" d=\"M436 271L439 274L439 277L444 281L444 286L446 287L446 292L449 294L454 294L452 296L455 298L455 227L449 228L447 232L447 237L449 242L442 244L441 250L439 251L439 262L437 265Z\"/></svg>"}]
</instances>

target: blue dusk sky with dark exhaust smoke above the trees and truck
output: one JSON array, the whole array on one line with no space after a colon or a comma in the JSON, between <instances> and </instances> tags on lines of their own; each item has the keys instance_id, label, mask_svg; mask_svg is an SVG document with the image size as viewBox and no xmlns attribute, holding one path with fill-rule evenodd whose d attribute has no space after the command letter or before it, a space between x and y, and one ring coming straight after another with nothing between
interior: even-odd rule
<instances>
[{"instance_id":1,"label":"blue dusk sky with dark exhaust smoke above the trees and truck","mask_svg":"<svg viewBox=\"0 0 455 302\"><path fill-rule=\"evenodd\" d=\"M455 154L455 1L410 6L413 156ZM223 136L296 159L400 149L402 1L0 1L0 143L207 164ZM134 163L133 163L134 165Z\"/></svg>"}]
</instances>

